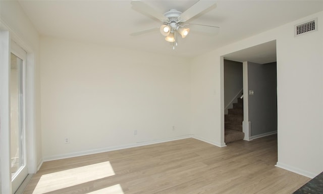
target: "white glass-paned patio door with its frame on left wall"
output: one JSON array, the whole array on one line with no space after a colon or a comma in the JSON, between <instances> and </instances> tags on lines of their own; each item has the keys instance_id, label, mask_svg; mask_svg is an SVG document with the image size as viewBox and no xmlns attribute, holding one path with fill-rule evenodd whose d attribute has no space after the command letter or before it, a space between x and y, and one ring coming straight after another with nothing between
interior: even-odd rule
<instances>
[{"instance_id":1,"label":"white glass-paned patio door with its frame on left wall","mask_svg":"<svg viewBox=\"0 0 323 194\"><path fill-rule=\"evenodd\" d=\"M35 173L37 169L34 133L35 57L31 52L33 50L6 25L2 25L0 36L0 192L14 193L22 191L20 186L26 180L26 175ZM24 45L24 49L18 44Z\"/></svg>"}]
</instances>

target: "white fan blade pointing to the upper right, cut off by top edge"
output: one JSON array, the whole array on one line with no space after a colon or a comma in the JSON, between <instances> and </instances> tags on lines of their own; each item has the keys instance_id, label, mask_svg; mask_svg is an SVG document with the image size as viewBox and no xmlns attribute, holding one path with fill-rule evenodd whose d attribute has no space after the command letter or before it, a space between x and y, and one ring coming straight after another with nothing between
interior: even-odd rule
<instances>
[{"instance_id":1,"label":"white fan blade pointing to the upper right, cut off by top edge","mask_svg":"<svg viewBox=\"0 0 323 194\"><path fill-rule=\"evenodd\" d=\"M215 1L198 1L192 7L183 12L180 17L181 19L187 21L208 8L211 8L212 6L216 8Z\"/></svg>"}]
</instances>

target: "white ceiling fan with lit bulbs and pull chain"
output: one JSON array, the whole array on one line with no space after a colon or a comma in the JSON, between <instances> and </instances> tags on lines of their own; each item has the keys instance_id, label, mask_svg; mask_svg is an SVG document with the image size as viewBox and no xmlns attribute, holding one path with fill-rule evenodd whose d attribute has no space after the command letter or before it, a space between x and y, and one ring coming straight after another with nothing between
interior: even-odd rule
<instances>
[{"instance_id":1,"label":"white ceiling fan with lit bulbs and pull chain","mask_svg":"<svg viewBox=\"0 0 323 194\"><path fill-rule=\"evenodd\" d=\"M173 49L177 45L177 35L178 33L185 38L190 32L190 28L194 28L194 31L202 32L204 34L215 35L219 31L217 26L201 25L201 24L186 24L185 22L193 18L194 16L203 13L209 8L216 7L216 2L214 1L197 1L192 7L184 11L183 13L171 9L170 11L162 14L155 9L151 8L149 5L145 4L141 0L132 0L132 8L141 13L150 15L163 24L160 27L150 28L139 32L131 33L130 35L136 36L144 34L150 31L159 29L160 33L165 37L166 41L173 42Z\"/></svg>"}]
</instances>

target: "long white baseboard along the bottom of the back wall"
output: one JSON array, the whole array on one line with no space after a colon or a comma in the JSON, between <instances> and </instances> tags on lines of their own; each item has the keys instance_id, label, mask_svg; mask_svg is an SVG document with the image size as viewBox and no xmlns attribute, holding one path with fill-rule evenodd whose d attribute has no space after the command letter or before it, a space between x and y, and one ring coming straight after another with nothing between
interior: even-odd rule
<instances>
[{"instance_id":1,"label":"long white baseboard along the bottom of the back wall","mask_svg":"<svg viewBox=\"0 0 323 194\"><path fill-rule=\"evenodd\" d=\"M155 143L163 143L167 141L174 141L174 140L179 140L179 139L186 139L186 138L191 138L193 135L182 135L182 136L176 136L176 137L170 137L170 138L164 138L164 139L156 139L156 140L151 140L151 141L142 141L142 142L137 142L133 144L126 144L122 146L113 146L113 147L107 147L107 148L101 148L101 149L95 149L95 150L87 150L87 151L82 151L82 152L74 152L74 153L69 153L69 154L62 154L62 155L56 155L56 156L49 156L49 157L44 157L43 161L52 161L52 160L59 160L59 159L65 159L65 158L72 158L72 157L77 157L77 156L85 156L89 154L97 154L97 153L102 153L102 152L109 152L109 151L115 151L115 150L122 150L122 149L127 149L127 148L135 148L139 146L147 146L150 144L155 144ZM41 162L42 164L42 162ZM40 164L40 166L41 166ZM38 166L38 168L40 168Z\"/></svg>"}]
</instances>

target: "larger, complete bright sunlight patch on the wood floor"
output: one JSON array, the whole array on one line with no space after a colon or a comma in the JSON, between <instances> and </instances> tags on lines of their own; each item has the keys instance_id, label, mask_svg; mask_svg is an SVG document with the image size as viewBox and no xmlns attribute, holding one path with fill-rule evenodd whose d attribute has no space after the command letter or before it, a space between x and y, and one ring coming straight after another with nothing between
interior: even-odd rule
<instances>
[{"instance_id":1,"label":"larger, complete bright sunlight patch on the wood floor","mask_svg":"<svg viewBox=\"0 0 323 194\"><path fill-rule=\"evenodd\" d=\"M109 161L44 174L40 177L33 194L59 190L113 175L115 172Z\"/></svg>"}]
</instances>

